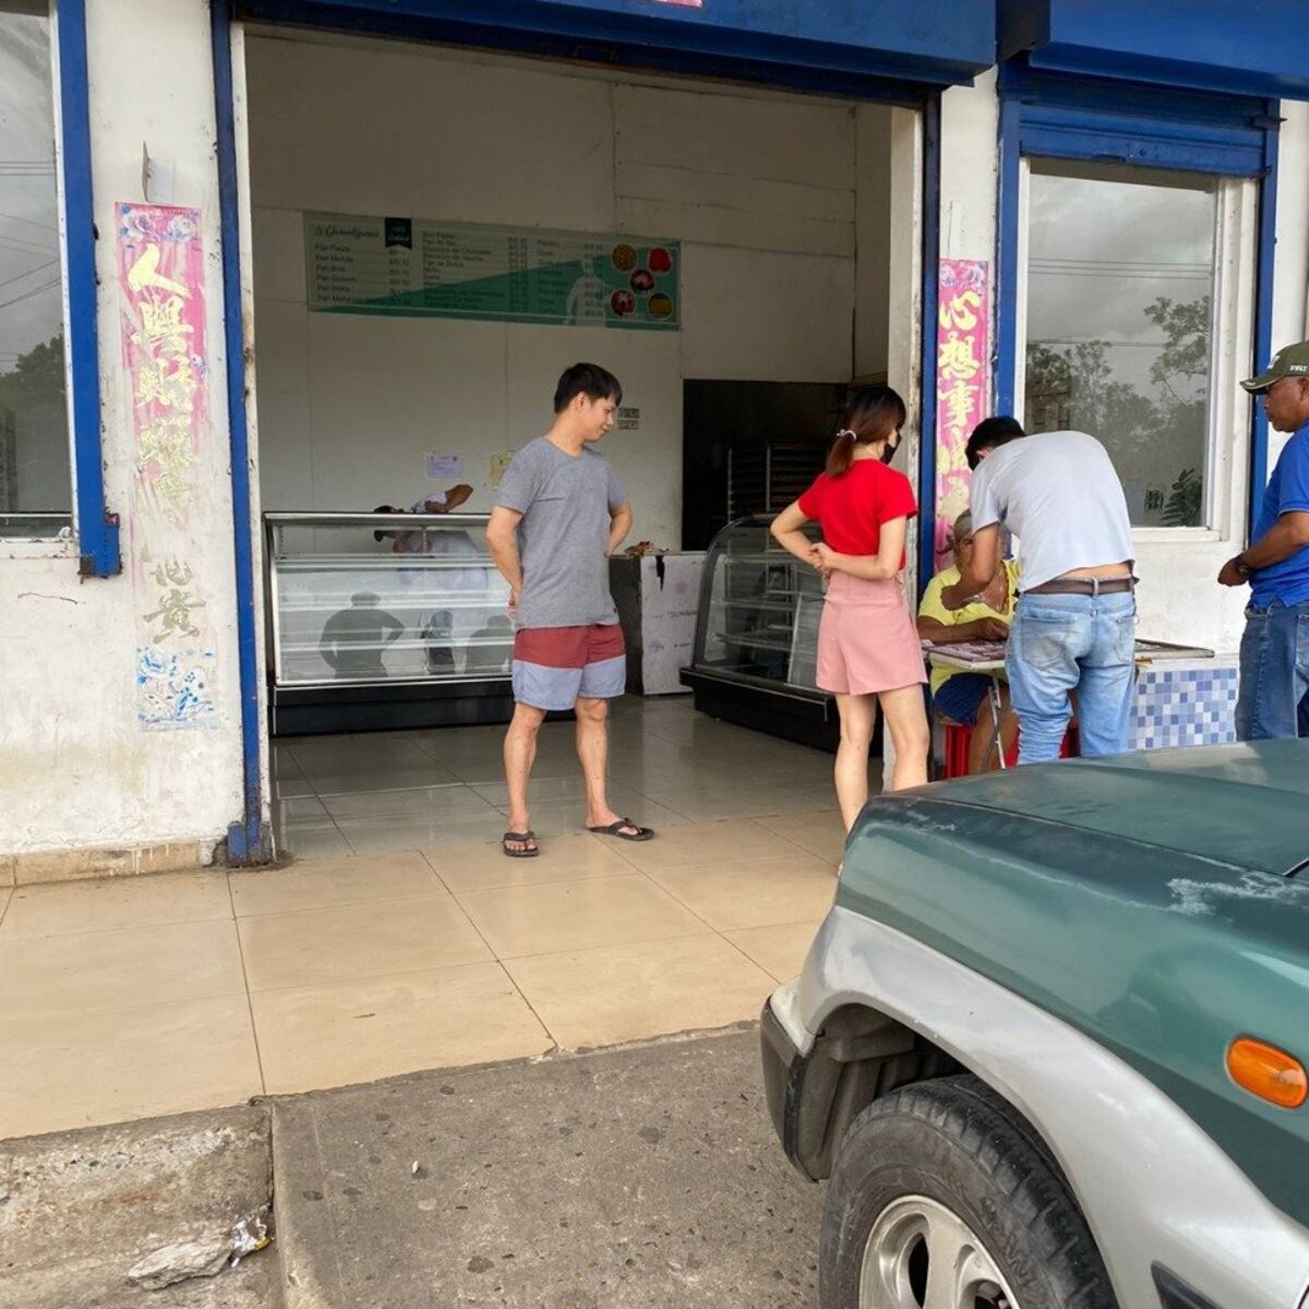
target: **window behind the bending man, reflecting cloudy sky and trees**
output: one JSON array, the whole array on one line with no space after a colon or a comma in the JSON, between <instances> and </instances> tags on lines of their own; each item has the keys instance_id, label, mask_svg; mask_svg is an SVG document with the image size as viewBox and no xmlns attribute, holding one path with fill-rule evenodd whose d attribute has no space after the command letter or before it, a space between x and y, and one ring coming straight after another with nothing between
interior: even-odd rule
<instances>
[{"instance_id":1,"label":"window behind the bending man, reflecting cloudy sky and trees","mask_svg":"<svg viewBox=\"0 0 1309 1309\"><path fill-rule=\"evenodd\" d=\"M1098 437L1139 526L1207 521L1220 187L1030 162L1024 419Z\"/></svg>"}]
</instances>

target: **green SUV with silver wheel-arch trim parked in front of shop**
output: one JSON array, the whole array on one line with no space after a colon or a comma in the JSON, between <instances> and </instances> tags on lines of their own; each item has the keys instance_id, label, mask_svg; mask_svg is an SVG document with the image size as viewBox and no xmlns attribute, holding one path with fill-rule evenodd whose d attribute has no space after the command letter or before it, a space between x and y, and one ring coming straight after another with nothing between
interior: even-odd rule
<instances>
[{"instance_id":1,"label":"green SUV with silver wheel-arch trim parked in front of shop","mask_svg":"<svg viewBox=\"0 0 1309 1309\"><path fill-rule=\"evenodd\" d=\"M874 800L762 1045L823 1309L1309 1309L1309 741Z\"/></svg>"}]
</instances>

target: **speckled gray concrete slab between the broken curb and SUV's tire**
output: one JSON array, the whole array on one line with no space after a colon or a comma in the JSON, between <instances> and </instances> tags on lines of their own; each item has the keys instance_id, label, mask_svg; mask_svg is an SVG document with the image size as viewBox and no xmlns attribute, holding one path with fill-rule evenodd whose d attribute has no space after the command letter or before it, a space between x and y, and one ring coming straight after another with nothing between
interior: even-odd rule
<instances>
[{"instance_id":1,"label":"speckled gray concrete slab between the broken curb and SUV's tire","mask_svg":"<svg viewBox=\"0 0 1309 1309\"><path fill-rule=\"evenodd\" d=\"M280 1101L288 1309L817 1304L758 1033Z\"/></svg>"}]
</instances>

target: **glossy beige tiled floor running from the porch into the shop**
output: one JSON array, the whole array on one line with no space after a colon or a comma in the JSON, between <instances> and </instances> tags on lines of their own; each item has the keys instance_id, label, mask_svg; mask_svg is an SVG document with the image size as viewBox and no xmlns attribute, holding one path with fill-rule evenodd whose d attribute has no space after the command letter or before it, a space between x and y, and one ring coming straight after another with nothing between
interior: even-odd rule
<instances>
[{"instance_id":1,"label":"glossy beige tiled floor running from the porch into the shop","mask_svg":"<svg viewBox=\"0 0 1309 1309\"><path fill-rule=\"evenodd\" d=\"M279 742L283 869L0 891L0 1138L755 1017L831 902L830 759L623 702L624 844L551 724L514 861L500 738Z\"/></svg>"}]
</instances>

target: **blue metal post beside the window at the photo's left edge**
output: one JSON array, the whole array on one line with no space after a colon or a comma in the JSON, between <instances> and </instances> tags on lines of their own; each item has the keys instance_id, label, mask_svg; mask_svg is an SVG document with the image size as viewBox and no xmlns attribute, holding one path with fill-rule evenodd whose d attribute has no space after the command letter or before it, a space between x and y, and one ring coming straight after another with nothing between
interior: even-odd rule
<instances>
[{"instance_id":1,"label":"blue metal post beside the window at the photo's left edge","mask_svg":"<svg viewBox=\"0 0 1309 1309\"><path fill-rule=\"evenodd\" d=\"M105 457L99 435L99 351L96 332L96 215L90 173L90 92L86 68L86 3L59 0L59 107L63 120L68 360L72 377L73 479L82 577L123 571L118 514L105 505Z\"/></svg>"}]
</instances>

